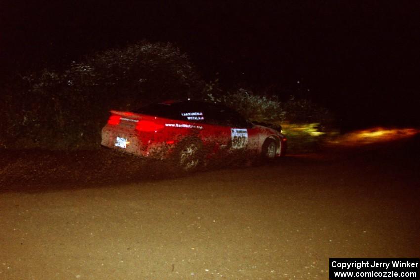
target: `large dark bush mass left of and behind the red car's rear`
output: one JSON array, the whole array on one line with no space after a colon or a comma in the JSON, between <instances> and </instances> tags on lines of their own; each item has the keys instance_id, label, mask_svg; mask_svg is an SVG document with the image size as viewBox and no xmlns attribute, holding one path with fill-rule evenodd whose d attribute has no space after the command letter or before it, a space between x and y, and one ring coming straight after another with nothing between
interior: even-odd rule
<instances>
[{"instance_id":1,"label":"large dark bush mass left of and behind the red car's rear","mask_svg":"<svg viewBox=\"0 0 420 280\"><path fill-rule=\"evenodd\" d=\"M170 43L143 40L44 69L10 82L0 97L3 147L77 148L97 145L110 109L199 95L204 82ZM7 133L6 133L7 131Z\"/></svg>"}]
</instances>

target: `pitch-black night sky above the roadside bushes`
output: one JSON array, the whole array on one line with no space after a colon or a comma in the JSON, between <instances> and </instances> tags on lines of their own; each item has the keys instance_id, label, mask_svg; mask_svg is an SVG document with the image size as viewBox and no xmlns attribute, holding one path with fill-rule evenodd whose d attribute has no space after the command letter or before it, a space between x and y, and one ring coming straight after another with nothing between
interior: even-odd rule
<instances>
[{"instance_id":1,"label":"pitch-black night sky above the roadside bushes","mask_svg":"<svg viewBox=\"0 0 420 280\"><path fill-rule=\"evenodd\" d=\"M10 2L1 9L1 70L171 41L226 87L296 88L303 79L306 95L345 122L420 125L419 1L189 2Z\"/></svg>"}]
</instances>

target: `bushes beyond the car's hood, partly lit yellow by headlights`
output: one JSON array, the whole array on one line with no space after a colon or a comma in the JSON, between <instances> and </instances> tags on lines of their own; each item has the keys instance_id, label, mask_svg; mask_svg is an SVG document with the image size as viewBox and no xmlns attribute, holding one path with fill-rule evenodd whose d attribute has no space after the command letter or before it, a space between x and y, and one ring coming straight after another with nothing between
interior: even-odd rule
<instances>
[{"instance_id":1,"label":"bushes beyond the car's hood, partly lit yellow by headlights","mask_svg":"<svg viewBox=\"0 0 420 280\"><path fill-rule=\"evenodd\" d=\"M281 125L291 153L318 150L331 129L332 115L308 99L290 96L281 102L275 95L259 95L242 88L224 94L218 90L217 83L208 85L205 93L208 101L223 103L253 122L272 127Z\"/></svg>"}]
</instances>

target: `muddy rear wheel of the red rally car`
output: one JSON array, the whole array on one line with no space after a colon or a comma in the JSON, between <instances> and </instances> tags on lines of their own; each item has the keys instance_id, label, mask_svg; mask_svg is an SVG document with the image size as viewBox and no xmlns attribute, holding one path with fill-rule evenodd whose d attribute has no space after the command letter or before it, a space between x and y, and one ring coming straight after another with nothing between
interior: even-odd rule
<instances>
[{"instance_id":1,"label":"muddy rear wheel of the red rally car","mask_svg":"<svg viewBox=\"0 0 420 280\"><path fill-rule=\"evenodd\" d=\"M200 140L186 139L180 142L174 153L174 167L178 171L196 171L202 163L203 149Z\"/></svg>"}]
</instances>

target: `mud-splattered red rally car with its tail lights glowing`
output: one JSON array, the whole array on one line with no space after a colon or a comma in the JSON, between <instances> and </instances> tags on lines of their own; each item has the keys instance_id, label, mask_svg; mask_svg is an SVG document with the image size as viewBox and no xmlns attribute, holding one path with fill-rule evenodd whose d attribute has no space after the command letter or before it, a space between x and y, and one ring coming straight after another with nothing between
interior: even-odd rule
<instances>
[{"instance_id":1,"label":"mud-splattered red rally car with its tail lights glowing","mask_svg":"<svg viewBox=\"0 0 420 280\"><path fill-rule=\"evenodd\" d=\"M254 124L210 102L166 101L133 112L111 110L103 146L141 157L171 160L193 171L213 158L246 154L271 160L286 152L280 131Z\"/></svg>"}]
</instances>

